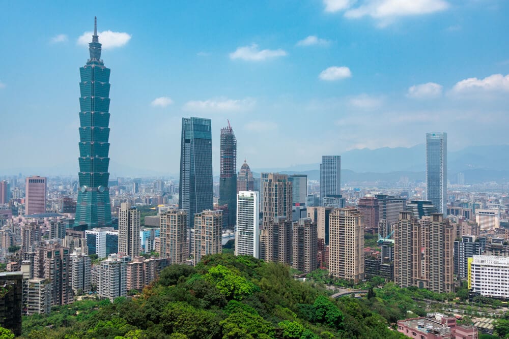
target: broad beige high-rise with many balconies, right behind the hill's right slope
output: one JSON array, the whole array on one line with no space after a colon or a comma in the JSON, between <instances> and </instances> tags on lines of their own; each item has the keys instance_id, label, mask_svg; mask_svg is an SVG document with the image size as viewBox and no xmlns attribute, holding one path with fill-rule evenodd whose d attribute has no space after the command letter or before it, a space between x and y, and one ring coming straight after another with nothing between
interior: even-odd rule
<instances>
[{"instance_id":1,"label":"broad beige high-rise with many balconies, right behind the hill's right slope","mask_svg":"<svg viewBox=\"0 0 509 339\"><path fill-rule=\"evenodd\" d=\"M364 279L364 224L353 207L337 208L329 220L329 271L354 283Z\"/></svg>"}]
</instances>

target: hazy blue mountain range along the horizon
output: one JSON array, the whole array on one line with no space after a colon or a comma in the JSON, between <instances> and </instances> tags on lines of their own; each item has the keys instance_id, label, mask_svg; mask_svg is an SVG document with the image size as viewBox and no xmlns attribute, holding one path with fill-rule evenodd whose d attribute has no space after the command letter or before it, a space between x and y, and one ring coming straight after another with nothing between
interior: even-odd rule
<instances>
[{"instance_id":1,"label":"hazy blue mountain range along the horizon","mask_svg":"<svg viewBox=\"0 0 509 339\"><path fill-rule=\"evenodd\" d=\"M449 181L456 182L458 172L465 173L467 183L485 181L509 181L509 145L469 146L448 152ZM54 164L49 167L16 168L0 163L0 175L17 173L39 175L74 175L77 162ZM139 164L142 165L142 164ZM240 163L239 163L240 167ZM382 147L377 149L354 149L341 154L342 182L349 181L397 181L402 176L409 180L425 180L426 148L424 144L413 147ZM251 168L253 172L280 172L307 174L309 179L320 178L320 164L292 165L286 168ZM126 166L115 161L110 163L110 177L117 176L171 176L178 173L165 173L161 170ZM218 173L214 173L217 175Z\"/></svg>"}]
</instances>

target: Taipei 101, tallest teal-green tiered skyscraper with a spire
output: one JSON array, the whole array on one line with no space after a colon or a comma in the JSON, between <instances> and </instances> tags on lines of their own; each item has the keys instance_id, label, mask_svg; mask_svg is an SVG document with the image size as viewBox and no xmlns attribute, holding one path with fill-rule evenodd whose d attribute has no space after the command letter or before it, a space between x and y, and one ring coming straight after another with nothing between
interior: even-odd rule
<instances>
[{"instance_id":1,"label":"Taipei 101, tallest teal-green tiered skyscraper with a spire","mask_svg":"<svg viewBox=\"0 0 509 339\"><path fill-rule=\"evenodd\" d=\"M79 69L79 188L75 224L86 224L88 229L111 224L108 191L110 70L101 60L101 46L96 17L89 44L90 59Z\"/></svg>"}]
</instances>

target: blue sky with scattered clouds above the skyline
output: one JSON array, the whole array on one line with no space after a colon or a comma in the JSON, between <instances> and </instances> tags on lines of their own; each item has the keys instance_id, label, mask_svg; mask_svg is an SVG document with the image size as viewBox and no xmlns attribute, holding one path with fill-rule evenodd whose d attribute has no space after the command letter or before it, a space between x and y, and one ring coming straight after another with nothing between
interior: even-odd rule
<instances>
[{"instance_id":1,"label":"blue sky with scattered clouds above the skyline","mask_svg":"<svg viewBox=\"0 0 509 339\"><path fill-rule=\"evenodd\" d=\"M183 116L212 119L214 172L227 119L239 167L408 147L429 131L447 132L449 149L507 143L504 0L0 6L0 171L77 172L80 42L94 16L111 68L112 176L177 174Z\"/></svg>"}]
</instances>

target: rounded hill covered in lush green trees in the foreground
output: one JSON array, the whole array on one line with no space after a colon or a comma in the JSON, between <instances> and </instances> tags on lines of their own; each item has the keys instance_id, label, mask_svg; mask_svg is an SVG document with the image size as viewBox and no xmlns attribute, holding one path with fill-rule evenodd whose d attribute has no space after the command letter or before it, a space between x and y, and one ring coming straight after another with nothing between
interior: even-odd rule
<instances>
[{"instance_id":1,"label":"rounded hill covered in lush green trees in the foreground","mask_svg":"<svg viewBox=\"0 0 509 339\"><path fill-rule=\"evenodd\" d=\"M370 307L375 307L373 311ZM332 300L289 267L230 254L172 265L140 297L78 301L23 319L28 338L402 338L383 298ZM54 325L53 328L46 326Z\"/></svg>"}]
</instances>

